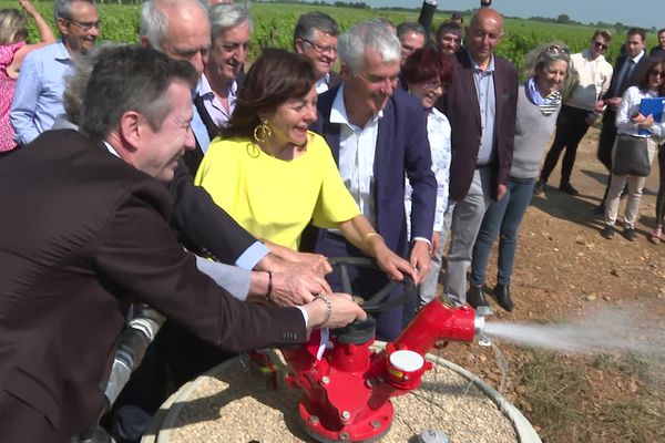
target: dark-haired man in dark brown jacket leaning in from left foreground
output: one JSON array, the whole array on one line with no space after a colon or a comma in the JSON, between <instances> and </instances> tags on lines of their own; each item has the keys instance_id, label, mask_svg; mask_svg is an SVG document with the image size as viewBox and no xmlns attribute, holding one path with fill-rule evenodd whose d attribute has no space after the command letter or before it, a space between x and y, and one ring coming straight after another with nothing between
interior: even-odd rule
<instances>
[{"instance_id":1,"label":"dark-haired man in dark brown jacket leaning in from left foreground","mask_svg":"<svg viewBox=\"0 0 665 443\"><path fill-rule=\"evenodd\" d=\"M330 307L239 302L196 270L160 183L194 145L195 72L153 50L106 51L81 134L50 131L0 163L3 441L64 442L95 423L133 300L235 351L300 343L307 324L365 317L338 295Z\"/></svg>"}]
</instances>

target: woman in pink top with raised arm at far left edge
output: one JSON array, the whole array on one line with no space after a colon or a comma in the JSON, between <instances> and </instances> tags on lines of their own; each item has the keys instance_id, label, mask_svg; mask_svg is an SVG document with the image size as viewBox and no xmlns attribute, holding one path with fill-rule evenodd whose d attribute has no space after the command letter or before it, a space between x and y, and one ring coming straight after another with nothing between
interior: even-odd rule
<instances>
[{"instance_id":1,"label":"woman in pink top with raised arm at far left edge","mask_svg":"<svg viewBox=\"0 0 665 443\"><path fill-rule=\"evenodd\" d=\"M9 111L21 63L31 51L55 41L53 31L30 1L19 0L19 4L34 19L40 41L27 44L28 22L19 10L0 10L0 156L17 147Z\"/></svg>"}]
</instances>

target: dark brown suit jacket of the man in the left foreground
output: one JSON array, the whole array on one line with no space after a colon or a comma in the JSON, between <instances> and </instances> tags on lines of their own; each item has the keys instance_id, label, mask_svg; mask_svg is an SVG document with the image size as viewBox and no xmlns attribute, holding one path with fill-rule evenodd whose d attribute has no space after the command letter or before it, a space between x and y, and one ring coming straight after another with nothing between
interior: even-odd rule
<instances>
[{"instance_id":1,"label":"dark brown suit jacket of the man in the left foreground","mask_svg":"<svg viewBox=\"0 0 665 443\"><path fill-rule=\"evenodd\" d=\"M164 186L79 133L45 132L0 177L0 436L62 442L96 422L134 300L233 351L306 340L297 309L239 302L198 272ZM12 401L41 419L17 431Z\"/></svg>"}]
</instances>

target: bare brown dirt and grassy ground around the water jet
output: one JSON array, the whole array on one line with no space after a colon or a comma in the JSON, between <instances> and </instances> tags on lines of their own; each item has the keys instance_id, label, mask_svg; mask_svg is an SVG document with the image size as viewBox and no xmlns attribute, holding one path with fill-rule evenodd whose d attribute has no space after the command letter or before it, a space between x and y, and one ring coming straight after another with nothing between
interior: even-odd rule
<instances>
[{"instance_id":1,"label":"bare brown dirt and grassy ground around the water jet","mask_svg":"<svg viewBox=\"0 0 665 443\"><path fill-rule=\"evenodd\" d=\"M597 137L598 130L591 128L580 145L572 177L579 196L557 190L557 167L550 182L554 187L548 187L544 197L533 198L522 224L511 285L515 310L508 313L494 306L493 319L560 322L603 307L648 303L648 321L664 321L661 319L665 315L665 243L653 245L646 238L654 226L657 164L654 163L642 198L637 240L630 243L621 235L607 240L600 235L602 217L592 210L600 203L605 186L605 171L595 158ZM620 210L624 204L622 200ZM490 287L495 282L495 257L494 248L488 270ZM612 340L611 333L608 336ZM504 395L522 409L543 441L665 441L659 424L657 430L648 429L652 416L654 427L656 419L663 420L665 387L649 382L635 365L626 367L623 358L543 357L500 346L510 364ZM451 344L443 356L499 385L500 371L491 350ZM538 371L544 374L539 375ZM549 379L548 372L551 372ZM536 375L540 381L534 379ZM571 379L576 380L579 385L573 387L573 391L577 392L570 392ZM534 392L548 388L552 388L551 394ZM546 404L540 404L541 401ZM635 408L631 410L626 404ZM644 411L654 404L659 411ZM617 405L621 410L614 411ZM607 416L614 412L617 416ZM653 440L655 435L659 437Z\"/></svg>"}]
</instances>

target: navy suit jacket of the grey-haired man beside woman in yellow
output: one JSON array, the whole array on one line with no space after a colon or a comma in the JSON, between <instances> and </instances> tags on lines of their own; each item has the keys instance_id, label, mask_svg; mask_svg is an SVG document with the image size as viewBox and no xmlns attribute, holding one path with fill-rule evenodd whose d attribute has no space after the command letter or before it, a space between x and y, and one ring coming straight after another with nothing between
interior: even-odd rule
<instances>
[{"instance_id":1,"label":"navy suit jacket of the grey-haired man beside woman in yellow","mask_svg":"<svg viewBox=\"0 0 665 443\"><path fill-rule=\"evenodd\" d=\"M330 123L332 101L339 87L318 97L318 120L311 131L323 135L339 163L340 125ZM422 104L397 89L379 120L379 133L374 165L374 198L377 212L376 229L386 245L397 254L408 253L405 216L405 173L413 187L411 237L432 237L437 200L437 179L431 171L431 154L427 138L427 120Z\"/></svg>"}]
</instances>

